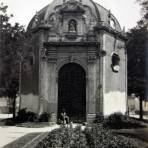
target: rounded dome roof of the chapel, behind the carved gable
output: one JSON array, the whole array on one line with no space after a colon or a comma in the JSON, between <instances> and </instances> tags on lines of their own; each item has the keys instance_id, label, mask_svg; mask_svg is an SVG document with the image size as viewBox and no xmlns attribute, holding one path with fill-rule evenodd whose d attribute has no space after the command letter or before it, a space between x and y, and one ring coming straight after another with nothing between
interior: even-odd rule
<instances>
[{"instance_id":1,"label":"rounded dome roof of the chapel, behind the carved gable","mask_svg":"<svg viewBox=\"0 0 148 148\"><path fill-rule=\"evenodd\" d=\"M111 14L109 10L93 2L92 0L54 0L51 4L44 7L32 18L27 30L30 31L42 24L44 24L44 27L50 27L51 21L53 21L54 19L54 17L52 16L55 13L58 13L58 11L61 11L61 9L63 9L64 11L64 9L66 9L66 3L76 3L76 9L79 9L79 11L84 9L84 19L89 16L89 14L87 13L88 10L96 21L95 25L99 25L101 23L109 26L115 31L122 31L119 22L113 16L113 14ZM71 9L71 11L74 11L75 8L69 9Z\"/></svg>"}]
</instances>

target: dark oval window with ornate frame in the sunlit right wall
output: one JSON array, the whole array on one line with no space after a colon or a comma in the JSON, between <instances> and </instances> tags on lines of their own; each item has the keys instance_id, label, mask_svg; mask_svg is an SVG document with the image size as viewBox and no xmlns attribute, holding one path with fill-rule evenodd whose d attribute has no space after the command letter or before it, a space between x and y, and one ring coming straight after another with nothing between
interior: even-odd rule
<instances>
[{"instance_id":1,"label":"dark oval window with ornate frame in the sunlit right wall","mask_svg":"<svg viewBox=\"0 0 148 148\"><path fill-rule=\"evenodd\" d=\"M120 70L120 57L117 53L112 54L112 70L113 72L119 72Z\"/></svg>"}]
</instances>

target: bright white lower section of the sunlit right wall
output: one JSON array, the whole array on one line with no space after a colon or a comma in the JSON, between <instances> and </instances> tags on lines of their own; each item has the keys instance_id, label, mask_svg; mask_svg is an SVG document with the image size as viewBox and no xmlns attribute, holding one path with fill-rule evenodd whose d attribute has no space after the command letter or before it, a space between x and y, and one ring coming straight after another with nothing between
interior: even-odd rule
<instances>
[{"instance_id":1,"label":"bright white lower section of the sunlit right wall","mask_svg":"<svg viewBox=\"0 0 148 148\"><path fill-rule=\"evenodd\" d=\"M126 94L118 91L104 94L104 115L126 112Z\"/></svg>"}]
</instances>

